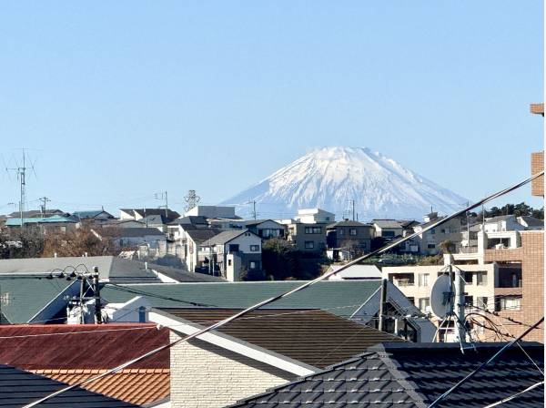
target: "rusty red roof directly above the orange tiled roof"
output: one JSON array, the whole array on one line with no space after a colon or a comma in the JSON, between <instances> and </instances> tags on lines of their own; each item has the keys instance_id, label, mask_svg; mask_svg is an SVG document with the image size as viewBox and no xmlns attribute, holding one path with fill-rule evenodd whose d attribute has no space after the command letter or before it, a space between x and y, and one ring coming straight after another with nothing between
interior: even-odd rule
<instances>
[{"instance_id":1,"label":"rusty red roof directly above the orange tiled roof","mask_svg":"<svg viewBox=\"0 0 546 408\"><path fill-rule=\"evenodd\" d=\"M169 342L149 323L0 326L0 363L24 370L108 369ZM129 368L169 368L168 349Z\"/></svg>"}]
</instances>

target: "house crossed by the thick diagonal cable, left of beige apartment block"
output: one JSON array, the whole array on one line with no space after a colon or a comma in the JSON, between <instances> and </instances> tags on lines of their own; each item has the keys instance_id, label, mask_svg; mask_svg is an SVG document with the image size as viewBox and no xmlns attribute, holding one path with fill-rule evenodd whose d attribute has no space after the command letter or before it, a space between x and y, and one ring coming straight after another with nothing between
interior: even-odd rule
<instances>
[{"instance_id":1,"label":"house crossed by the thick diagonal cable, left of beige apartment block","mask_svg":"<svg viewBox=\"0 0 546 408\"><path fill-rule=\"evenodd\" d=\"M422 232L440 219L445 219L445 217L439 217L437 212L430 212L424 217L423 224L413 227L413 230L419 233L416 240L419 242L421 255L438 255L442 251L442 245L448 245L453 252L460 250L462 233L461 219L459 218L450 219L438 228Z\"/></svg>"}]
</instances>

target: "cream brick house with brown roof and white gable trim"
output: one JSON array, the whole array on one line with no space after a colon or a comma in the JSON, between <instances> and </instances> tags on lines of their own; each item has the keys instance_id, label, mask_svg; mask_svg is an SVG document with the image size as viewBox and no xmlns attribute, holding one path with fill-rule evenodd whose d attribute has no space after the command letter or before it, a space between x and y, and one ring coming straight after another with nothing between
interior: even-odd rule
<instances>
[{"instance_id":1,"label":"cream brick house with brown roof and white gable trim","mask_svg":"<svg viewBox=\"0 0 546 408\"><path fill-rule=\"evenodd\" d=\"M167 309L152 310L149 316L169 328L170 341L176 342L238 311ZM326 311L252 311L171 347L171 407L224 407L319 372L372 344L397 341L403 342Z\"/></svg>"}]
</instances>

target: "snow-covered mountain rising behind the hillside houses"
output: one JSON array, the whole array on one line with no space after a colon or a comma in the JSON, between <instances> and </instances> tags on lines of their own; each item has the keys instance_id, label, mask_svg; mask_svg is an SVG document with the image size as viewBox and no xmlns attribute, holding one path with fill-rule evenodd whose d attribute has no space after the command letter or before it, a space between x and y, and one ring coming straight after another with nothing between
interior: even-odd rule
<instances>
[{"instance_id":1,"label":"snow-covered mountain rising behind the hillside houses","mask_svg":"<svg viewBox=\"0 0 546 408\"><path fill-rule=\"evenodd\" d=\"M430 207L440 213L460 209L467 199L404 168L369 148L320 148L280 168L267 179L227 199L241 205L256 200L258 217L288 218L298 209L319 207L348 215L355 200L359 219L421 219Z\"/></svg>"}]
</instances>

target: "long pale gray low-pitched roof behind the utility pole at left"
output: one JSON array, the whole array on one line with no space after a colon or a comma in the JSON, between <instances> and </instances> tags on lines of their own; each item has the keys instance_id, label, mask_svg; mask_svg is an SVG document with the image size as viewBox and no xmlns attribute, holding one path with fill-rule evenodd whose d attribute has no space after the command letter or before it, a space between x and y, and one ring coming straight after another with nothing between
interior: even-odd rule
<instances>
[{"instance_id":1,"label":"long pale gray low-pitched roof behind the utility pole at left","mask_svg":"<svg viewBox=\"0 0 546 408\"><path fill-rule=\"evenodd\" d=\"M20 260L0 260L1 274L47 274L52 271L65 270L70 273L76 270L93 270L98 268L100 279L134 282L156 282L156 275L145 270L144 263L136 260L125 260L114 256L99 257L58 257L26 258Z\"/></svg>"}]
</instances>

